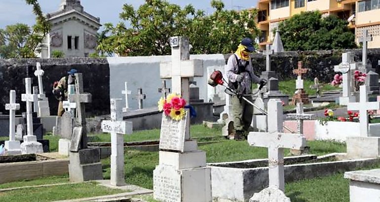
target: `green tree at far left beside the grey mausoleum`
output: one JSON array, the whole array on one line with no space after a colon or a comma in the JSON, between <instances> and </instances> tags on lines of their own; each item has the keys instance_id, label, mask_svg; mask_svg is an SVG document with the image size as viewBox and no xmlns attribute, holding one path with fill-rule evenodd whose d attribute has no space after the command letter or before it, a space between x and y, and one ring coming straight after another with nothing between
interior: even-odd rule
<instances>
[{"instance_id":1,"label":"green tree at far left beside the grey mausoleum","mask_svg":"<svg viewBox=\"0 0 380 202\"><path fill-rule=\"evenodd\" d=\"M1 58L34 58L39 51L39 44L50 30L50 24L42 14L38 0L25 0L33 6L36 24L30 28L25 24L8 25L0 29Z\"/></svg>"}]
</instances>

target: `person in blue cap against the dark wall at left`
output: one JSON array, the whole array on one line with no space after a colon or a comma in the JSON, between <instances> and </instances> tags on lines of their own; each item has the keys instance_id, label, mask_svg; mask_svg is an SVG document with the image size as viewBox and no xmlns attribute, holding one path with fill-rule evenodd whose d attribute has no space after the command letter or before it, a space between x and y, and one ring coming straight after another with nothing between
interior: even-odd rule
<instances>
[{"instance_id":1,"label":"person in blue cap against the dark wall at left","mask_svg":"<svg viewBox=\"0 0 380 202\"><path fill-rule=\"evenodd\" d=\"M68 71L68 75L62 77L59 81L53 84L53 95L59 101L58 104L58 116L62 116L65 112L63 109L63 101L67 100L68 97L68 85L75 84L75 74L78 71L76 69L71 69Z\"/></svg>"}]
</instances>

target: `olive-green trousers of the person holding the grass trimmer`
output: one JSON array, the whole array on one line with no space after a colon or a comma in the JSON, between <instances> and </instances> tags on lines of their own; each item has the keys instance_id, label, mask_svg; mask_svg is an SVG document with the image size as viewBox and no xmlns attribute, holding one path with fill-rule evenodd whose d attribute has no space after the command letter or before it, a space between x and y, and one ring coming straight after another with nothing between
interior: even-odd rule
<instances>
[{"instance_id":1,"label":"olive-green trousers of the person holding the grass trimmer","mask_svg":"<svg viewBox=\"0 0 380 202\"><path fill-rule=\"evenodd\" d=\"M252 96L244 96L253 102ZM237 96L232 96L233 126L235 131L248 131L252 123L253 106Z\"/></svg>"}]
</instances>

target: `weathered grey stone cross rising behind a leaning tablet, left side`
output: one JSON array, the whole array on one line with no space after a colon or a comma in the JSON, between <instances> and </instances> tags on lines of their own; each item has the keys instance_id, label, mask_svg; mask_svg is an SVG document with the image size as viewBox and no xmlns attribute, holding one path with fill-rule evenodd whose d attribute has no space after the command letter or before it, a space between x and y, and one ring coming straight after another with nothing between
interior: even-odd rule
<instances>
[{"instance_id":1,"label":"weathered grey stone cross rising behind a leaning tablet, left side","mask_svg":"<svg viewBox=\"0 0 380 202\"><path fill-rule=\"evenodd\" d=\"M82 128L80 139L80 148L87 148L87 128L86 128L86 110L85 103L91 102L91 94L83 93L83 75L76 73L76 94L69 95L69 100L76 102L76 127Z\"/></svg>"}]
</instances>

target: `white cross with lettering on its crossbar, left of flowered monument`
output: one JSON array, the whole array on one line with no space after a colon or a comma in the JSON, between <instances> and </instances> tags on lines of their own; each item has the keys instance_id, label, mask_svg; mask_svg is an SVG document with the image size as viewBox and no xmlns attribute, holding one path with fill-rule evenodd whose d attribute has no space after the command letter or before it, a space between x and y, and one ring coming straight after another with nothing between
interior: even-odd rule
<instances>
[{"instance_id":1,"label":"white cross with lettering on its crossbar, left of flowered monument","mask_svg":"<svg viewBox=\"0 0 380 202\"><path fill-rule=\"evenodd\" d=\"M102 121L103 133L111 133L111 185L125 185L124 134L132 134L132 122L123 121L121 99L111 99L111 120Z\"/></svg>"}]
</instances>

